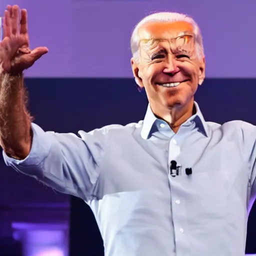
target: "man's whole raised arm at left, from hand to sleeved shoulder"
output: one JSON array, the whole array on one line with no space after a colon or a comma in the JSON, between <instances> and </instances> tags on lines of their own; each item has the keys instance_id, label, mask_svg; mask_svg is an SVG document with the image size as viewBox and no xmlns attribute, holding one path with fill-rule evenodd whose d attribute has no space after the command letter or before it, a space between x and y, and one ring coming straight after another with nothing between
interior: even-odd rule
<instances>
[{"instance_id":1,"label":"man's whole raised arm at left, from hand to sleeved shoulder","mask_svg":"<svg viewBox=\"0 0 256 256\"><path fill-rule=\"evenodd\" d=\"M88 200L100 173L107 130L81 131L78 137L45 132L31 122L22 72L47 48L29 49L26 10L21 10L20 19L18 14L18 6L7 7L0 42L0 143L4 161L60 192Z\"/></svg>"}]
</instances>

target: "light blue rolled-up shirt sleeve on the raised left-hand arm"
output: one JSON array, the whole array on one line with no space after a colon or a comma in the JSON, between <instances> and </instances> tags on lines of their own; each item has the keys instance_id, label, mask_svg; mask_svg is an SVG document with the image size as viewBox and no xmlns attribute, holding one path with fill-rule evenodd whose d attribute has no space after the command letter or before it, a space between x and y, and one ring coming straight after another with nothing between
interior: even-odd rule
<instances>
[{"instance_id":1,"label":"light blue rolled-up shirt sleeve on the raised left-hand arm","mask_svg":"<svg viewBox=\"0 0 256 256\"><path fill-rule=\"evenodd\" d=\"M2 151L5 164L59 192L87 201L100 172L106 134L93 130L79 131L77 136L45 132L35 123L31 127L32 145L27 157L17 160Z\"/></svg>"}]
</instances>

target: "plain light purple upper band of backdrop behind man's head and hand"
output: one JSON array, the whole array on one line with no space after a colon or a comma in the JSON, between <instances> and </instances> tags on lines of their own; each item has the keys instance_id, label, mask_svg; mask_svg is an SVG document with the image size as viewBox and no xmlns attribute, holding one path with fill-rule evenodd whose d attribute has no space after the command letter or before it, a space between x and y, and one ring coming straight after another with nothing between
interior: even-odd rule
<instances>
[{"instance_id":1,"label":"plain light purple upper band of backdrop behind man's head and hand","mask_svg":"<svg viewBox=\"0 0 256 256\"><path fill-rule=\"evenodd\" d=\"M1 0L27 8L31 46L49 53L29 77L132 77L132 28L155 10L185 12L204 37L207 77L256 77L255 0Z\"/></svg>"}]
</instances>

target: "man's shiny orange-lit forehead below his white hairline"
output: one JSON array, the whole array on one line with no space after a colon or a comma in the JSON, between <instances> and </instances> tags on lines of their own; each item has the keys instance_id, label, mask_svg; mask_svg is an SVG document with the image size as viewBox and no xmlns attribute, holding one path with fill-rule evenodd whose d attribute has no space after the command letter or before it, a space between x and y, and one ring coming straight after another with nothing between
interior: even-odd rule
<instances>
[{"instance_id":1,"label":"man's shiny orange-lit forehead below his white hairline","mask_svg":"<svg viewBox=\"0 0 256 256\"><path fill-rule=\"evenodd\" d=\"M138 30L140 39L154 39L154 38L172 38L178 36L182 32L193 33L193 26L186 21L173 22L148 22Z\"/></svg>"}]
</instances>

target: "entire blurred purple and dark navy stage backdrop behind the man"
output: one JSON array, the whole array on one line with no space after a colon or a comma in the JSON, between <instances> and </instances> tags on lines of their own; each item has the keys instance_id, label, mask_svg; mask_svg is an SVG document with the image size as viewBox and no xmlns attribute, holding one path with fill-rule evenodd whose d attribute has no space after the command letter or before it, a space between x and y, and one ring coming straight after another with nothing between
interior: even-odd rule
<instances>
[{"instance_id":1,"label":"entire blurred purple and dark navy stage backdrop behind the man","mask_svg":"<svg viewBox=\"0 0 256 256\"><path fill-rule=\"evenodd\" d=\"M44 130L76 133L143 119L147 100L132 79L129 39L136 22L156 10L188 13L201 27L207 78L196 100L205 119L256 124L255 1L1 0L0 15L14 3L28 10L31 47L49 48L25 72L29 109ZM103 255L82 200L7 168L2 159L0 194L0 255L67 256L69 246L70 256ZM246 253L256 253L255 207Z\"/></svg>"}]
</instances>

